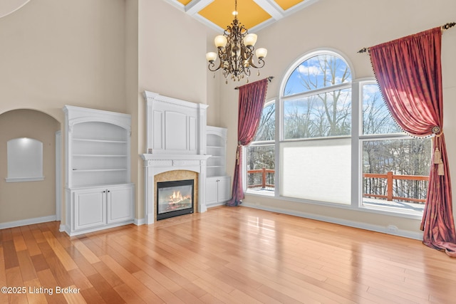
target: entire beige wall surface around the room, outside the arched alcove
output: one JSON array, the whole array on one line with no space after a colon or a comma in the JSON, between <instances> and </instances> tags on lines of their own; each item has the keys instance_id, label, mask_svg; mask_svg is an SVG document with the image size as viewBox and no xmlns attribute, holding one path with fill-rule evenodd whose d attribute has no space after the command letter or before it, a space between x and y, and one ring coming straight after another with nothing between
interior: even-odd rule
<instances>
[{"instance_id":1,"label":"entire beige wall surface around the room, outside the arched alcove","mask_svg":"<svg viewBox=\"0 0 456 304\"><path fill-rule=\"evenodd\" d=\"M289 66L318 48L331 48L346 56L356 78L372 77L368 57L356 53L360 48L455 21L455 10L452 0L320 0L259 31L257 44L268 48L269 53L261 75L252 73L250 81L275 76L268 90L268 98L274 98ZM144 216L144 170L139 157L145 150L144 90L207 103L209 125L229 129L227 172L232 175L237 141L234 87L239 83L225 85L222 77L214 79L213 73L207 72L204 53L213 51L215 34L162 0L30 1L0 19L0 113L38 110L62 126L63 105L130 113L135 217L140 220ZM442 50L444 129L450 166L456 163L452 156L456 121L451 119L456 112L452 103L456 99L455 49L456 29L451 29L444 33ZM453 176L455 170L452 166ZM282 199L247 196L246 202L343 221L394 224L408 231L418 231L419 226L419 220Z\"/></svg>"}]
</instances>

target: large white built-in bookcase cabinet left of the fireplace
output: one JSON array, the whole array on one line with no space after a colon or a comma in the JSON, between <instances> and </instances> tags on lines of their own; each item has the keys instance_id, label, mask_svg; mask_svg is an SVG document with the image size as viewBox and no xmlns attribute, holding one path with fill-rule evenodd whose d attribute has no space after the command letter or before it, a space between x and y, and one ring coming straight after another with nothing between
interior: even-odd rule
<instances>
[{"instance_id":1,"label":"large white built-in bookcase cabinet left of the fireplace","mask_svg":"<svg viewBox=\"0 0 456 304\"><path fill-rule=\"evenodd\" d=\"M66 105L66 224L70 235L133 223L128 114Z\"/></svg>"}]
</instances>

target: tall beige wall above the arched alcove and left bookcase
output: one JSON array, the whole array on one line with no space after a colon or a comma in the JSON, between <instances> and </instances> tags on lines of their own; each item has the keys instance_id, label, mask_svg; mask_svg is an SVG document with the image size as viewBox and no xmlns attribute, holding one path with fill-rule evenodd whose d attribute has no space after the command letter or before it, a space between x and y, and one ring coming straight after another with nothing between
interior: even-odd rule
<instances>
[{"instance_id":1,"label":"tall beige wall above the arched alcove and left bookcase","mask_svg":"<svg viewBox=\"0 0 456 304\"><path fill-rule=\"evenodd\" d=\"M63 131L63 105L126 111L124 0L33 0L0 18L0 41L0 114L38 110ZM55 206L55 194L47 201Z\"/></svg>"}]
</instances>

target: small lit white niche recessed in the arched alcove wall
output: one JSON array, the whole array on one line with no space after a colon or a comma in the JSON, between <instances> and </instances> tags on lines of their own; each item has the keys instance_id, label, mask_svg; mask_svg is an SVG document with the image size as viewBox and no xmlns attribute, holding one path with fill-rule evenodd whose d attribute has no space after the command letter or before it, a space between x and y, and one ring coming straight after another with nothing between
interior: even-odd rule
<instances>
[{"instance_id":1,"label":"small lit white niche recessed in the arched alcove wall","mask_svg":"<svg viewBox=\"0 0 456 304\"><path fill-rule=\"evenodd\" d=\"M8 177L6 182L43 180L43 142L32 138L14 138L6 143Z\"/></svg>"}]
</instances>

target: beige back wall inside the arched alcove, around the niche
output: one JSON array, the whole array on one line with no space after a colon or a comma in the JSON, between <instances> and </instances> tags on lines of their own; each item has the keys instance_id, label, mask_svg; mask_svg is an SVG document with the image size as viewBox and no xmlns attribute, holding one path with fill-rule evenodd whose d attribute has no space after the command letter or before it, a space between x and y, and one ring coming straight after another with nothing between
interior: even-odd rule
<instances>
[{"instance_id":1,"label":"beige back wall inside the arched alcove, around the niche","mask_svg":"<svg viewBox=\"0 0 456 304\"><path fill-rule=\"evenodd\" d=\"M56 131L53 117L35 110L0 115L0 224L56 215ZM6 142L28 137L43 143L43 176L37 182L6 182Z\"/></svg>"}]
</instances>

